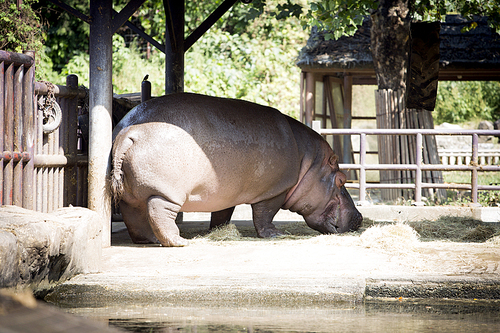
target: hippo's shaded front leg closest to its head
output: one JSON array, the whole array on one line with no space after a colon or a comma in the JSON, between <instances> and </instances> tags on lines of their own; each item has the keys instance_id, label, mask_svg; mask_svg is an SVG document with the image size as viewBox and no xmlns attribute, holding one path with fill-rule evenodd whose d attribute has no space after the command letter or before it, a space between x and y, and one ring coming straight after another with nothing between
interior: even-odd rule
<instances>
[{"instance_id":1,"label":"hippo's shaded front leg closest to its head","mask_svg":"<svg viewBox=\"0 0 500 333\"><path fill-rule=\"evenodd\" d=\"M284 235L276 229L273 218L283 205L285 194L279 195L270 200L252 204L252 217L257 236L261 238L277 237Z\"/></svg>"}]
</instances>

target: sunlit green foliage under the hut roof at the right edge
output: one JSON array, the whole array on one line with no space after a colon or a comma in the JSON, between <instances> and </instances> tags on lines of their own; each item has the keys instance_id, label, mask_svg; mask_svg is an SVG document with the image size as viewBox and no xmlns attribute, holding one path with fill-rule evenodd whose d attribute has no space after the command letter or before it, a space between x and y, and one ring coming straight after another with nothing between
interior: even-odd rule
<instances>
[{"instance_id":1,"label":"sunlit green foliage under the hut roof at the right edge","mask_svg":"<svg viewBox=\"0 0 500 333\"><path fill-rule=\"evenodd\" d=\"M500 82L440 82L433 112L436 124L500 118Z\"/></svg>"}]
</instances>

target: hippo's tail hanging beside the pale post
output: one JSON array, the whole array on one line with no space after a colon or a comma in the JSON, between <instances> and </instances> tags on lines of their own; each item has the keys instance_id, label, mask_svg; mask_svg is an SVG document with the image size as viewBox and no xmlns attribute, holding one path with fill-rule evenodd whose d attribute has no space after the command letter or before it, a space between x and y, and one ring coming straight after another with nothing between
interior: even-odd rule
<instances>
[{"instance_id":1,"label":"hippo's tail hanging beside the pale post","mask_svg":"<svg viewBox=\"0 0 500 333\"><path fill-rule=\"evenodd\" d=\"M125 134L125 133L121 133ZM123 160L125 154L130 147L134 144L134 141L128 135L118 135L113 144L113 159L112 159L112 169L109 181L109 190L111 196L113 197L113 202L115 206L120 202L124 188L123 188Z\"/></svg>"}]
</instances>

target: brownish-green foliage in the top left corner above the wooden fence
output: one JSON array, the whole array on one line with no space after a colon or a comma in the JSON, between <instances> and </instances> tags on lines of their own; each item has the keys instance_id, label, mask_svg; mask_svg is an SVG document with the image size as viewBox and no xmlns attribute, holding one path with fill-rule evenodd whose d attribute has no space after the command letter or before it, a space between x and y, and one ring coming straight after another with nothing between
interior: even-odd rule
<instances>
[{"instance_id":1,"label":"brownish-green foliage in the top left corner above the wooden fence","mask_svg":"<svg viewBox=\"0 0 500 333\"><path fill-rule=\"evenodd\" d=\"M0 50L39 52L42 47L40 20L32 10L36 0L25 0L18 8L14 0L0 0Z\"/></svg>"}]
</instances>

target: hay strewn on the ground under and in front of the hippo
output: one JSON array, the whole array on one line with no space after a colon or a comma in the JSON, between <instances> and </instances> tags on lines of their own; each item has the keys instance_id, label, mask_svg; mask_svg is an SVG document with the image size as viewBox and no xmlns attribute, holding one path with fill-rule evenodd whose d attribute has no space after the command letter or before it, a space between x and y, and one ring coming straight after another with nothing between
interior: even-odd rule
<instances>
[{"instance_id":1,"label":"hay strewn on the ground under and in front of the hippo","mask_svg":"<svg viewBox=\"0 0 500 333\"><path fill-rule=\"evenodd\" d=\"M206 226L189 228L181 230L181 235L188 239L205 239L214 242L306 240L320 236L319 232L309 228L305 222L276 223L276 226L285 233L284 236L274 239L258 238L252 223L239 223L238 226L229 223L210 231ZM181 229L183 229L182 226ZM355 236L359 237L362 246L403 250L412 248L418 242L429 241L482 243L491 240L490 243L500 242L498 240L500 239L500 223L483 223L460 217L442 217L436 221L423 220L407 223L374 222L365 219L358 231L331 236L339 238L335 243L342 243L342 238ZM495 237L497 240L493 240Z\"/></svg>"}]
</instances>

